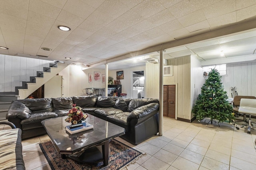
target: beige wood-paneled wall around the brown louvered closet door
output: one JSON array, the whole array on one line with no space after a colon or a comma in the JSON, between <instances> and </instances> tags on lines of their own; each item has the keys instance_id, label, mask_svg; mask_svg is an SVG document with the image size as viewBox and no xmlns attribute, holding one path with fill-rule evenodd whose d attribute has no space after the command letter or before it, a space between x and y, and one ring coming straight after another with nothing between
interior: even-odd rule
<instances>
[{"instance_id":1,"label":"beige wood-paneled wall around the brown louvered closet door","mask_svg":"<svg viewBox=\"0 0 256 170\"><path fill-rule=\"evenodd\" d=\"M177 117L191 119L191 56L168 60L173 76L164 76L164 85L177 84ZM200 63L198 61L198 63ZM198 67L198 66L197 66ZM199 66L200 67L200 66ZM159 98L159 64L146 64L148 98ZM201 78L203 80L203 77ZM198 95L198 94L196 94Z\"/></svg>"}]
</instances>

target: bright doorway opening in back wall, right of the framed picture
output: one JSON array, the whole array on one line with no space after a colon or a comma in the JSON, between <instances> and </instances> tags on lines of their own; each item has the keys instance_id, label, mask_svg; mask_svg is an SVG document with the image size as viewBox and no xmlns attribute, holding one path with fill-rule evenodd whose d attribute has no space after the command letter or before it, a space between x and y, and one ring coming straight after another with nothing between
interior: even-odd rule
<instances>
[{"instance_id":1,"label":"bright doorway opening in back wall, right of the framed picture","mask_svg":"<svg viewBox=\"0 0 256 170\"><path fill-rule=\"evenodd\" d=\"M132 98L144 98L144 70L132 72Z\"/></svg>"}]
</instances>

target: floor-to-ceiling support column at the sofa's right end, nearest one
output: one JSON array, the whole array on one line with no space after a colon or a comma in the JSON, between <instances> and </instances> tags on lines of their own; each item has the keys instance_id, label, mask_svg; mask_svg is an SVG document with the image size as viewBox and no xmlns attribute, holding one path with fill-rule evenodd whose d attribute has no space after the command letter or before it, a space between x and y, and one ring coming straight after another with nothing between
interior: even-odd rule
<instances>
[{"instance_id":1,"label":"floor-to-ceiling support column at the sofa's right end, nearest one","mask_svg":"<svg viewBox=\"0 0 256 170\"><path fill-rule=\"evenodd\" d=\"M164 112L163 112L163 93L164 93L164 50L160 50L160 62L159 62L159 136L163 135L163 119L164 119Z\"/></svg>"}]
</instances>

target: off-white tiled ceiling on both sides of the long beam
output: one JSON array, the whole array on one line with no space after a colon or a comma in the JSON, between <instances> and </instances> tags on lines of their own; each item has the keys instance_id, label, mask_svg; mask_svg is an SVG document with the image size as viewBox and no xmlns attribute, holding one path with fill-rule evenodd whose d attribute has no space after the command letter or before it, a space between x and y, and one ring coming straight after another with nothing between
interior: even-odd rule
<instances>
[{"instance_id":1,"label":"off-white tiled ceiling on both sides of the long beam","mask_svg":"<svg viewBox=\"0 0 256 170\"><path fill-rule=\"evenodd\" d=\"M46 55L98 63L154 45L192 37L256 18L255 0L3 0L1 54ZM71 31L60 31L66 25ZM252 53L256 33L186 45L205 60ZM247 39L248 38L248 39ZM41 47L51 48L44 51ZM175 48L174 48L175 49ZM177 50L177 49L176 49ZM182 57L184 48L166 57ZM193 54L194 54L193 53ZM196 56L196 54L195 54ZM80 58L81 57L81 58ZM74 59L74 60L73 60Z\"/></svg>"}]
</instances>

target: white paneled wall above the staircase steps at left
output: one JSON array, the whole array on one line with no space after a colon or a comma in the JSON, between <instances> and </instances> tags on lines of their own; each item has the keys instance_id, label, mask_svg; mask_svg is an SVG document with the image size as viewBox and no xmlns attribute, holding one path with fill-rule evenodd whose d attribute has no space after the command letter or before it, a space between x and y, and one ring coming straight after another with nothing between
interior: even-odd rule
<instances>
[{"instance_id":1,"label":"white paneled wall above the staircase steps at left","mask_svg":"<svg viewBox=\"0 0 256 170\"><path fill-rule=\"evenodd\" d=\"M36 71L43 71L52 61L0 55L0 92L15 92L15 86L22 86L22 81L30 81Z\"/></svg>"}]
</instances>

